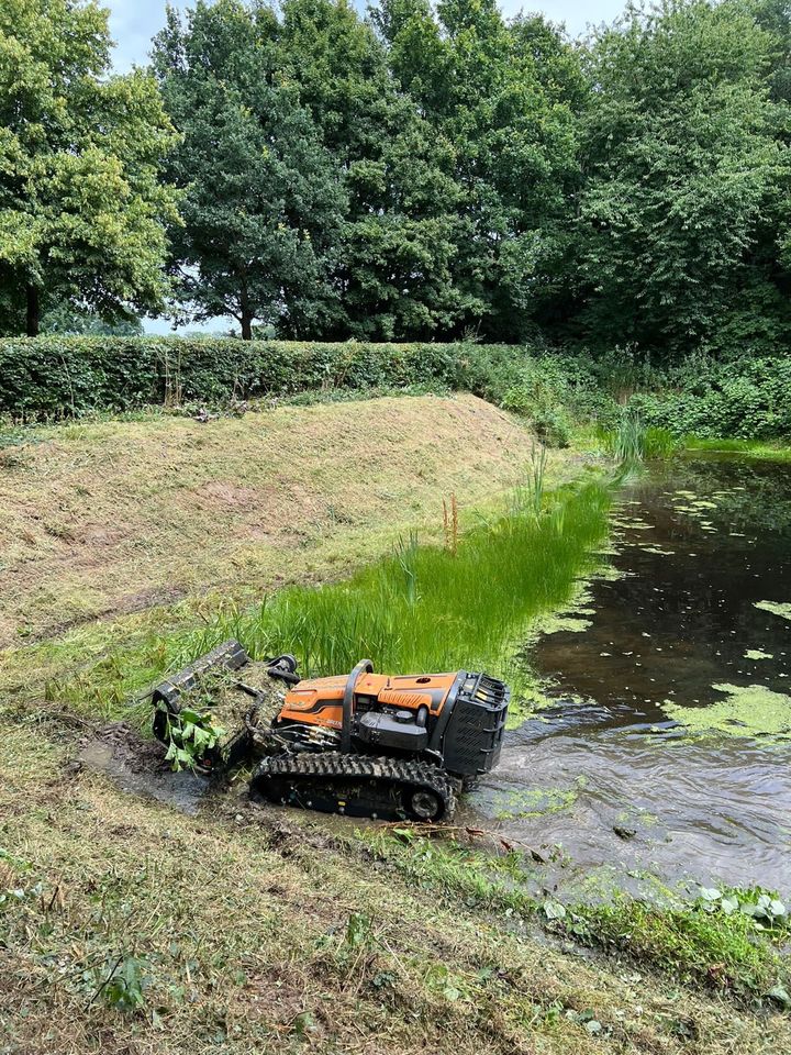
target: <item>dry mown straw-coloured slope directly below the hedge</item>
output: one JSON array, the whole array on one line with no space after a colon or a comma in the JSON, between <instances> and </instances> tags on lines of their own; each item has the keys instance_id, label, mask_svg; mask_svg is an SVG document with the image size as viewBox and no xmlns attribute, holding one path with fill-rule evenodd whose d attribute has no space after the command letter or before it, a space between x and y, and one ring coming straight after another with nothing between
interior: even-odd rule
<instances>
[{"instance_id":1,"label":"dry mown straw-coloured slope directly below the hedge","mask_svg":"<svg viewBox=\"0 0 791 1055\"><path fill-rule=\"evenodd\" d=\"M482 400L387 398L201 424L86 424L0 466L0 648L378 556L516 482L531 438ZM35 438L35 434L32 434ZM283 552L288 553L285 559Z\"/></svg>"}]
</instances>

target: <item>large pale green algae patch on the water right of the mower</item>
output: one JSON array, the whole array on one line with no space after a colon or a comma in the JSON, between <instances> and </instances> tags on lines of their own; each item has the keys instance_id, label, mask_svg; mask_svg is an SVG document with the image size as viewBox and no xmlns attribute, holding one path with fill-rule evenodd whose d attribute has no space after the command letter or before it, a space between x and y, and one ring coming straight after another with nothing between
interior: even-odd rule
<instances>
[{"instance_id":1,"label":"large pale green algae patch on the water right of the mower","mask_svg":"<svg viewBox=\"0 0 791 1055\"><path fill-rule=\"evenodd\" d=\"M765 685L712 686L726 699L709 707L687 707L666 700L662 704L670 718L692 732L722 730L735 736L784 736L791 734L791 696L773 692Z\"/></svg>"}]
</instances>

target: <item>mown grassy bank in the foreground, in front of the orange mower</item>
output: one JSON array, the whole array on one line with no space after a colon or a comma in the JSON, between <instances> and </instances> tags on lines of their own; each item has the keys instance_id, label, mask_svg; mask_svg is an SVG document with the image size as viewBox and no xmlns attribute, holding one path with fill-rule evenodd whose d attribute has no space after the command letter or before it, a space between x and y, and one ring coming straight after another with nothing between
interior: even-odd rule
<instances>
[{"instance_id":1,"label":"mown grassy bank in the foreground, in front of the orange mower","mask_svg":"<svg viewBox=\"0 0 791 1055\"><path fill-rule=\"evenodd\" d=\"M733 964L656 974L536 932L514 865L242 799L198 818L0 714L0 1029L10 1051L780 1052ZM622 945L623 947L623 945ZM621 954L624 955L624 954ZM775 974L762 954L761 977ZM708 968L713 970L709 974ZM686 976L694 986L680 980ZM738 981L738 979L736 979Z\"/></svg>"}]
</instances>

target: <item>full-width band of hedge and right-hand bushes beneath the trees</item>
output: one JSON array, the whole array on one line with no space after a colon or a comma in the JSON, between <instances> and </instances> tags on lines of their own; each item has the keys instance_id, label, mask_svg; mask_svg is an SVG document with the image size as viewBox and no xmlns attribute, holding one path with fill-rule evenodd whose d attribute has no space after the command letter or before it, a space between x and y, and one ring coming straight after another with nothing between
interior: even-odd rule
<instances>
[{"instance_id":1,"label":"full-width band of hedge and right-hand bushes beneath the trees","mask_svg":"<svg viewBox=\"0 0 791 1055\"><path fill-rule=\"evenodd\" d=\"M626 408L677 437L791 436L791 356L692 356L657 369L623 352L592 357L539 345L0 340L0 417L16 422L149 404L437 387L525 417L554 446L569 443L575 424L616 429Z\"/></svg>"}]
</instances>

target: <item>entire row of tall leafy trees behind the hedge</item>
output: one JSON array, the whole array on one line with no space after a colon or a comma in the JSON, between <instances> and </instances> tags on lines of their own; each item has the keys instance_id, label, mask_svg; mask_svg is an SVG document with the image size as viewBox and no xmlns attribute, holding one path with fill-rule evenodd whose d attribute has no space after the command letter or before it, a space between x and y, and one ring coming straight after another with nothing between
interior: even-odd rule
<instances>
[{"instance_id":1,"label":"entire row of tall leafy trees behind the hedge","mask_svg":"<svg viewBox=\"0 0 791 1055\"><path fill-rule=\"evenodd\" d=\"M167 293L245 337L789 345L787 0L584 41L495 0L196 0L153 76L110 62L91 0L0 9L7 330Z\"/></svg>"}]
</instances>

